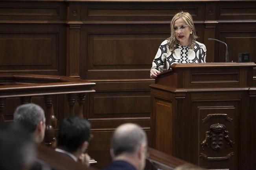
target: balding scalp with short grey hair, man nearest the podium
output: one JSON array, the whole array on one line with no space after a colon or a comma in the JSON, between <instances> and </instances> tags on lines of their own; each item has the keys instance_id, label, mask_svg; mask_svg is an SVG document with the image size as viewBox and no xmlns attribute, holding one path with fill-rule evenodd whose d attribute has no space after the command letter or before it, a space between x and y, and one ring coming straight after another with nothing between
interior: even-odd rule
<instances>
[{"instance_id":1,"label":"balding scalp with short grey hair, man nearest the podium","mask_svg":"<svg viewBox=\"0 0 256 170\"><path fill-rule=\"evenodd\" d=\"M112 138L114 156L123 153L133 154L142 144L147 145L147 136L141 127L133 123L120 125Z\"/></svg>"}]
</instances>

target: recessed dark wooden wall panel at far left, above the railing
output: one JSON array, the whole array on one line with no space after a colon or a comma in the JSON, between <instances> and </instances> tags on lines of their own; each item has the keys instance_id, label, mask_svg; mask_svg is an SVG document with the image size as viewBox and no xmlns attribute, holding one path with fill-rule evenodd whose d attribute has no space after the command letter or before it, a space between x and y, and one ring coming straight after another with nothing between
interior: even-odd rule
<instances>
[{"instance_id":1,"label":"recessed dark wooden wall panel at far left, above the railing","mask_svg":"<svg viewBox=\"0 0 256 170\"><path fill-rule=\"evenodd\" d=\"M58 69L57 33L0 33L0 69Z\"/></svg>"}]
</instances>

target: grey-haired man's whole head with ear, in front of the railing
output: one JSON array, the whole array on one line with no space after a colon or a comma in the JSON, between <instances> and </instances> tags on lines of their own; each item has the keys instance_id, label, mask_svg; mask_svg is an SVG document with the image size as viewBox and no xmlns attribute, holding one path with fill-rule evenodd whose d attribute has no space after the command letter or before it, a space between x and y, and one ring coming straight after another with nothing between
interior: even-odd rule
<instances>
[{"instance_id":1,"label":"grey-haired man's whole head with ear, in front of the railing","mask_svg":"<svg viewBox=\"0 0 256 170\"><path fill-rule=\"evenodd\" d=\"M44 110L39 105L34 103L20 105L13 116L17 124L33 134L36 143L44 140L45 116Z\"/></svg>"}]
</instances>

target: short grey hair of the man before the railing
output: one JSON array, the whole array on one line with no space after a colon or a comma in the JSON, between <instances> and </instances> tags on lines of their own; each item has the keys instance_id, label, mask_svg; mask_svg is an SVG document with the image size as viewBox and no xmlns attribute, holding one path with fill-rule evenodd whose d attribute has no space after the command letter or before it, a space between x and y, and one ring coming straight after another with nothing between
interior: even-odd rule
<instances>
[{"instance_id":1,"label":"short grey hair of the man before the railing","mask_svg":"<svg viewBox=\"0 0 256 170\"><path fill-rule=\"evenodd\" d=\"M17 107L13 114L14 122L28 130L35 132L40 121L44 121L44 110L34 103L28 103Z\"/></svg>"}]
</instances>

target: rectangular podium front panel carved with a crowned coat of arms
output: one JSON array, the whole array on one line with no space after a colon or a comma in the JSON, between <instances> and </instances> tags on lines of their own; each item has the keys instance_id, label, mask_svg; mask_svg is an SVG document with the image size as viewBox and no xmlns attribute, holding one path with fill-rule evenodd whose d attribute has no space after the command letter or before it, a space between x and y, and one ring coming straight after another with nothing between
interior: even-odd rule
<instances>
[{"instance_id":1,"label":"rectangular podium front panel carved with a crowned coat of arms","mask_svg":"<svg viewBox=\"0 0 256 170\"><path fill-rule=\"evenodd\" d=\"M240 99L192 101L193 162L236 170L239 160Z\"/></svg>"}]
</instances>

